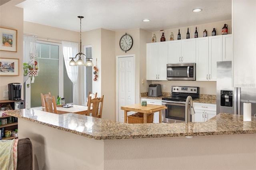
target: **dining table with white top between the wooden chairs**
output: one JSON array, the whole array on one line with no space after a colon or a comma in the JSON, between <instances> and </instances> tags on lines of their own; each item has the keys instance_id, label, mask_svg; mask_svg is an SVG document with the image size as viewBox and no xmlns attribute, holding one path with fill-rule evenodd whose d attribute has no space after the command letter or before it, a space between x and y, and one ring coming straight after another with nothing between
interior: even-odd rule
<instances>
[{"instance_id":1,"label":"dining table with white top between the wooden chairs","mask_svg":"<svg viewBox=\"0 0 256 170\"><path fill-rule=\"evenodd\" d=\"M58 114L64 114L64 113L76 113L80 115L87 115L87 106L80 106L80 105L73 105L73 107L56 107ZM91 110L92 111L92 108Z\"/></svg>"}]
</instances>

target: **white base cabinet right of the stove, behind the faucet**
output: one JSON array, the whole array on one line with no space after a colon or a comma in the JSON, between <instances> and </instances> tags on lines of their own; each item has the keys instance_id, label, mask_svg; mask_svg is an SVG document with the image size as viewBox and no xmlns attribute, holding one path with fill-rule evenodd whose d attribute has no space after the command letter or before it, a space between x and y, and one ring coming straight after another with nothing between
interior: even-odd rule
<instances>
[{"instance_id":1,"label":"white base cabinet right of the stove, behind the faucet","mask_svg":"<svg viewBox=\"0 0 256 170\"><path fill-rule=\"evenodd\" d=\"M205 122L216 116L216 105L214 104L193 103L193 105L195 110L194 122Z\"/></svg>"}]
</instances>

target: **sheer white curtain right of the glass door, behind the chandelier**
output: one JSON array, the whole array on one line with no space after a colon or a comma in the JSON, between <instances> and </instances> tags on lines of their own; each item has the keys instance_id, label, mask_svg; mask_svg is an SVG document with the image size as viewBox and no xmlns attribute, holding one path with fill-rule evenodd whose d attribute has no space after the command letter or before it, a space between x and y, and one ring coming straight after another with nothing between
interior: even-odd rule
<instances>
[{"instance_id":1,"label":"sheer white curtain right of the glass door, behind the chandelier","mask_svg":"<svg viewBox=\"0 0 256 170\"><path fill-rule=\"evenodd\" d=\"M62 41L62 51L68 78L73 83L73 104L78 105L78 67L69 65L70 57L74 57L78 53L78 43Z\"/></svg>"}]
</instances>

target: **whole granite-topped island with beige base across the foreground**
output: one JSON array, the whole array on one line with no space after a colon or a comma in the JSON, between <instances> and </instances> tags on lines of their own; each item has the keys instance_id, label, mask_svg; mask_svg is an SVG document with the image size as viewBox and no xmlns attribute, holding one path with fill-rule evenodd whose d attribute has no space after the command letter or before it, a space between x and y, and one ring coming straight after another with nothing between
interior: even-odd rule
<instances>
[{"instance_id":1,"label":"whole granite-topped island with beige base across the foreground","mask_svg":"<svg viewBox=\"0 0 256 170\"><path fill-rule=\"evenodd\" d=\"M32 140L34 169L256 167L256 122L240 115L221 113L207 122L176 124L126 124L34 109L8 115L19 118L19 138Z\"/></svg>"}]
</instances>

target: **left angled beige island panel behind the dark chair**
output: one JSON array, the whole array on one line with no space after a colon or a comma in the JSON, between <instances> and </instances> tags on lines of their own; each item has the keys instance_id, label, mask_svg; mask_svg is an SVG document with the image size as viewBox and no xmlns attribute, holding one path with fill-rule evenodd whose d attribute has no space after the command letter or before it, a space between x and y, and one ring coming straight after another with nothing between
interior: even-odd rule
<instances>
[{"instance_id":1,"label":"left angled beige island panel behind the dark chair","mask_svg":"<svg viewBox=\"0 0 256 170\"><path fill-rule=\"evenodd\" d=\"M70 125L71 126L71 125ZM30 138L33 170L103 170L104 142L40 125L18 123L19 139Z\"/></svg>"}]
</instances>

